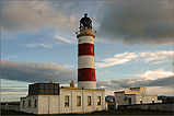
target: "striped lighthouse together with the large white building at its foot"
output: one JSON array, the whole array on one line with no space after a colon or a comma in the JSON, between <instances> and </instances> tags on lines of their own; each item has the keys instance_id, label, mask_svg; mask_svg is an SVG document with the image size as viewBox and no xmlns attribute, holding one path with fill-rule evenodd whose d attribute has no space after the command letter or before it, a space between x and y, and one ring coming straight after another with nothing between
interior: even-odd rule
<instances>
[{"instance_id":1,"label":"striped lighthouse together with the large white building at its foot","mask_svg":"<svg viewBox=\"0 0 174 116\"><path fill-rule=\"evenodd\" d=\"M88 113L107 109L105 90L96 89L95 57L92 21L84 14L77 32L78 88L59 88L58 83L35 83L28 88L28 95L21 97L20 111L33 114ZM106 104L106 105L105 105Z\"/></svg>"}]
</instances>

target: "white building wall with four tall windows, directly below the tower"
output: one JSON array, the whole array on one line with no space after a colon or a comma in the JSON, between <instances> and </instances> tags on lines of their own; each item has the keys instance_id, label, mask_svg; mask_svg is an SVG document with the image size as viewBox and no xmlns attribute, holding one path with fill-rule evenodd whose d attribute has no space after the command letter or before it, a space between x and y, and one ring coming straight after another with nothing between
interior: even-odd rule
<instances>
[{"instance_id":1,"label":"white building wall with four tall windows, directly below the tower","mask_svg":"<svg viewBox=\"0 0 174 116\"><path fill-rule=\"evenodd\" d=\"M69 95L69 107L65 106L65 96ZM77 96L81 96L81 106L77 106ZM88 106L88 96L91 96L91 105ZM97 105L97 96L101 96L101 105ZM94 112L105 109L105 92L97 91L60 91L60 113Z\"/></svg>"}]
</instances>

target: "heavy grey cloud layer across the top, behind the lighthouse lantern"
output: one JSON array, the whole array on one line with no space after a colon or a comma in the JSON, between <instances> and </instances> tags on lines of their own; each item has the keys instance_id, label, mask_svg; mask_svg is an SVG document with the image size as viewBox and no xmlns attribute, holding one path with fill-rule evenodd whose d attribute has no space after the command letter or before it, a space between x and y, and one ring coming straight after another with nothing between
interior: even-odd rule
<instances>
[{"instance_id":1,"label":"heavy grey cloud layer across the top, behind the lighthouse lantern","mask_svg":"<svg viewBox=\"0 0 174 116\"><path fill-rule=\"evenodd\" d=\"M83 13L93 20L103 42L171 44L174 38L173 1L12 1L2 2L1 26L9 32L56 28L74 33Z\"/></svg>"}]
</instances>

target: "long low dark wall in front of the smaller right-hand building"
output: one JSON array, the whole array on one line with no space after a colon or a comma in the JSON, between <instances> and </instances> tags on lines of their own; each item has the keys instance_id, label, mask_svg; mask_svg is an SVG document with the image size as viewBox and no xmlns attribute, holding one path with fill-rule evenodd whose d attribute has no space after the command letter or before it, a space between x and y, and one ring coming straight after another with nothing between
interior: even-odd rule
<instances>
[{"instance_id":1,"label":"long low dark wall in front of the smaller right-hand building","mask_svg":"<svg viewBox=\"0 0 174 116\"><path fill-rule=\"evenodd\" d=\"M119 109L135 108L135 109L150 109L150 111L174 111L174 104L132 104L132 105L118 105Z\"/></svg>"}]
</instances>

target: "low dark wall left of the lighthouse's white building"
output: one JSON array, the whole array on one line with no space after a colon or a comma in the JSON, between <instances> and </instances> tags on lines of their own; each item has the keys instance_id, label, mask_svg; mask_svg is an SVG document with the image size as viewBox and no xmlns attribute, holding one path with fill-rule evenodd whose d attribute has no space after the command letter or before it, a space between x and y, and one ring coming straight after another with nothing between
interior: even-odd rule
<instances>
[{"instance_id":1,"label":"low dark wall left of the lighthouse's white building","mask_svg":"<svg viewBox=\"0 0 174 116\"><path fill-rule=\"evenodd\" d=\"M1 109L8 109L8 111L20 111L20 104L1 104Z\"/></svg>"}]
</instances>

